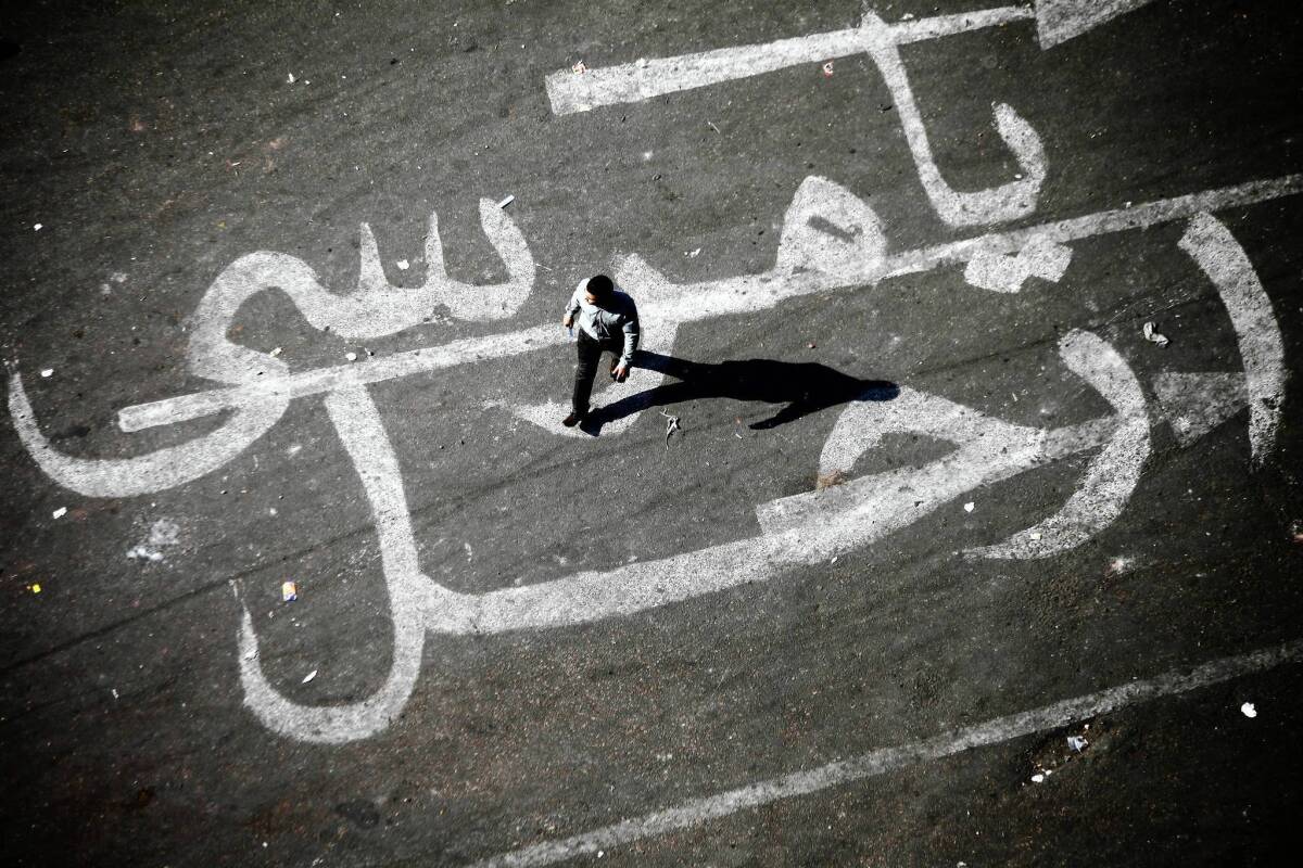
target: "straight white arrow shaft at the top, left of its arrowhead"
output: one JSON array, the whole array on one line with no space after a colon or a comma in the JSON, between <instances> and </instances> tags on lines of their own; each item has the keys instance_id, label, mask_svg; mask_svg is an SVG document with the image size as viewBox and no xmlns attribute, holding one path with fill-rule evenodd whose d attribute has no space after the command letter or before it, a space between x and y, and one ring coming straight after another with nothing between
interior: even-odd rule
<instances>
[{"instance_id":1,"label":"straight white arrow shaft at the top, left of its arrowhead","mask_svg":"<svg viewBox=\"0 0 1303 868\"><path fill-rule=\"evenodd\" d=\"M955 16L936 16L890 25L895 44L937 39L1035 17L1031 7L1003 7ZM751 78L799 64L822 64L864 51L860 27L778 39L754 46L717 48L678 57L638 60L575 74L563 69L545 79L554 115L588 112L602 105L637 103L722 82Z\"/></svg>"}]
</instances>

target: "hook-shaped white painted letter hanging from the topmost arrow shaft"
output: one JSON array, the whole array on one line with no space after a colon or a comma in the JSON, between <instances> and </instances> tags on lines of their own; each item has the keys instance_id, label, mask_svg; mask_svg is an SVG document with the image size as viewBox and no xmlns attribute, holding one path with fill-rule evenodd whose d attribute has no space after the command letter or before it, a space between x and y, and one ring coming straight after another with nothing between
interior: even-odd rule
<instances>
[{"instance_id":1,"label":"hook-shaped white painted letter hanging from the topmost arrow shaft","mask_svg":"<svg viewBox=\"0 0 1303 868\"><path fill-rule=\"evenodd\" d=\"M954 190L941 177L941 170L932 156L928 131L915 105L909 77L900 60L900 49L891 36L891 27L866 9L860 30L864 34L865 49L891 90L906 141L909 143L909 152L919 169L919 180L937 215L951 226L971 226L1018 220L1035 211L1041 183L1045 181L1045 147L1032 125L1011 107L1003 103L995 105L995 129L1018 160L1024 177L990 190L972 193Z\"/></svg>"}]
</instances>

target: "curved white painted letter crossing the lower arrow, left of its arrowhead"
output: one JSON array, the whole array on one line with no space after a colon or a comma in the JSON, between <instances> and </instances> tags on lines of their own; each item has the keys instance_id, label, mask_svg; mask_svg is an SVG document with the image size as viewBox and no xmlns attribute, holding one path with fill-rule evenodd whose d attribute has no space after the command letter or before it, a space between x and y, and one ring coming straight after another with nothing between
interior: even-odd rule
<instances>
[{"instance_id":1,"label":"curved white painted letter crossing the lower arrow, left of its arrowhead","mask_svg":"<svg viewBox=\"0 0 1303 868\"><path fill-rule=\"evenodd\" d=\"M1044 558L1076 548L1118 519L1140 481L1149 457L1149 419L1135 373L1117 350L1089 332L1070 332L1059 342L1059 355L1113 405L1117 429L1058 513L1003 543L969 549L971 556ZM1046 457L1059 457L1054 453L1066 446L1048 441Z\"/></svg>"}]
</instances>

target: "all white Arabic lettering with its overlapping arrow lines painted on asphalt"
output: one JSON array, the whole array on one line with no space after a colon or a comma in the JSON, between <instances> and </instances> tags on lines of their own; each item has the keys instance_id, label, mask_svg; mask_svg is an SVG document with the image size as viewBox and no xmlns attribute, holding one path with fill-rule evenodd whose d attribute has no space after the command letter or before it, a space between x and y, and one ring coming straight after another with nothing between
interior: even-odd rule
<instances>
[{"instance_id":1,"label":"all white Arabic lettering with its overlapping arrow lines painted on asphalt","mask_svg":"<svg viewBox=\"0 0 1303 868\"><path fill-rule=\"evenodd\" d=\"M1080 33L1104 17L1070 18L1065 17L1066 8L1063 3L1036 7L1044 44ZM646 64L618 75L606 75L603 70L564 79L554 75L549 78L549 94L559 112L644 99L654 92L797 62L794 59L807 57L816 48L825 57L827 46L820 40L844 39L848 51L852 44L853 49L869 51L893 87L902 104L920 178L942 219L952 225L998 223L1025 216L1036 207L1046 170L1036 133L1012 109L997 107L997 124L1027 177L994 190L950 190L932 163L895 46L1031 17L1032 8L1011 7L889 26L866 13L865 23L848 31L853 36L831 34L787 40L792 44L778 48L710 52L684 61L681 68ZM586 83L554 83L559 81ZM425 285L417 289L387 284L374 237L365 224L358 282L349 293L332 293L306 263L285 254L254 252L225 268L199 302L188 347L190 372L218 385L125 407L119 414L119 424L126 432L227 414L210 433L137 458L70 457L42 433L18 372L9 380L9 411L23 445L55 481L87 496L126 497L182 485L212 472L276 424L291 401L323 393L326 411L366 493L379 540L394 621L390 673L379 690L354 704L293 703L267 681L257 653L253 618L245 609L238 629L240 678L246 705L268 729L288 738L341 743L382 731L401 712L416 686L430 634L566 627L631 616L744 583L767 582L882 540L982 485L1095 452L1076 491L1058 511L1003 541L977 544L967 552L969 557L986 558L1052 557L1098 535L1123 513L1149 455L1152 426L1169 424L1181 442L1190 444L1246 406L1252 461L1261 466L1272 454L1281 416L1286 375L1282 341L1252 263L1212 215L1300 191L1303 176L1287 176L893 251L885 223L863 199L827 178L812 176L795 191L787 208L774 267L769 271L675 284L640 256L627 256L618 263L618 280L637 294L645 329L654 336L649 346L668 353L676 329L685 323L756 314L810 293L863 292L895 276L937 268L962 267L968 284L981 290L1019 293L1033 278L1058 282L1071 267L1072 242L1183 221L1187 228L1179 246L1225 303L1244 371L1164 373L1154 384L1158 406L1151 407L1126 359L1100 336L1074 331L1061 341L1059 355L1074 375L1108 401L1111 411L1105 416L1062 428L1033 428L911 388L902 388L887 402L852 401L840 413L818 461L821 475L837 474L844 481L757 505L752 536L657 561L588 570L487 593L460 593L422 573L401 468L369 385L556 347L567 340L560 328L547 324L504 331L304 372L291 372L280 359L229 338L241 306L258 293L272 290L285 293L315 328L328 327L351 340L399 333L421 323L435 307L461 320L513 316L533 288L534 258L512 220L487 199L481 202L481 224L509 276L496 286L470 286L447 276L433 216L426 242L430 268ZM827 233L816 224L839 232ZM609 389L605 398L644 394L659 377L652 371L637 371L628 384ZM552 422L560 415L558 407L508 406L507 410L554 433L571 433ZM628 429L636 418L633 414L612 423L605 433ZM851 476L856 461L891 433L924 433L952 444L954 449L924 466Z\"/></svg>"}]
</instances>

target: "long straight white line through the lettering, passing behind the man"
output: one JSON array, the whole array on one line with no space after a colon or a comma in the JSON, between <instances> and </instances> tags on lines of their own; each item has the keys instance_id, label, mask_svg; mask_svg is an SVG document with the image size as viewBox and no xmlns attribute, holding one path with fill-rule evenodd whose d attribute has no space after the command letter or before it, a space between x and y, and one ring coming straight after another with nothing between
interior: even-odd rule
<instances>
[{"instance_id":1,"label":"long straight white line through the lettering, passing behind the man","mask_svg":"<svg viewBox=\"0 0 1303 868\"><path fill-rule=\"evenodd\" d=\"M662 311L661 319L681 324L693 319L691 311L697 311L700 319L718 312L758 311L773 307L786 298L839 289L857 289L869 278L917 273L949 263L966 263L980 254L1016 254L1029 245L1045 241L1063 243L1113 232L1143 229L1160 223L1192 217L1204 211L1237 208L1298 193L1303 193L1303 174L1290 174L894 254L886 256L885 260L868 263L861 273L853 273L851 263L847 262L839 265L833 275L808 271L800 275L784 275L775 271L702 284L670 285L675 295L663 303L665 311ZM496 212L496 210L494 211ZM838 204L837 211L840 215L848 211L848 206ZM783 259L784 255L787 254L780 249L779 259ZM840 259L829 252L825 262L840 262ZM629 256L625 259L625 272L632 273L640 267L648 268L642 264L641 258ZM648 268L648 271L652 269ZM624 277L623 273L620 282L631 288L638 286L636 277ZM708 295L713 298L708 298ZM661 299L648 298L645 305L649 308L648 312L659 307L658 301ZM640 307L642 306L640 305ZM198 419L235 407L279 403L287 398L330 392L345 385L383 383L396 377L470 362L507 358L562 344L566 344L566 333L555 324L463 338L442 346L408 350L357 364L275 376L263 383L211 389L133 405L119 411L119 426L128 432L141 431L155 426Z\"/></svg>"}]
</instances>

